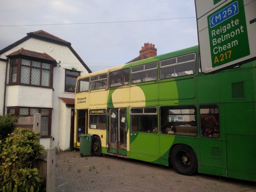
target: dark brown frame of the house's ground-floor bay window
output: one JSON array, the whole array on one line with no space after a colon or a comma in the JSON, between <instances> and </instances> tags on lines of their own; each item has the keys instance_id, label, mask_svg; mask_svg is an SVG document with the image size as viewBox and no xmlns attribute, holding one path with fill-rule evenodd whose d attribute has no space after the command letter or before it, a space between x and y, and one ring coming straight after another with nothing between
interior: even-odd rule
<instances>
[{"instance_id":1,"label":"dark brown frame of the house's ground-floor bay window","mask_svg":"<svg viewBox=\"0 0 256 192\"><path fill-rule=\"evenodd\" d=\"M20 108L28 108L28 115L20 115ZM9 110L10 109L15 109L15 114L11 114L13 116L33 116L30 115L30 110L31 109L39 109L39 113L41 113L42 109L48 109L49 110L49 115L42 115L41 117L49 117L49 121L48 121L48 131L47 131L47 135L41 136L42 138L46 138L46 137L51 137L51 132L52 132L52 108L38 108L38 107L7 107L7 114L9 114Z\"/></svg>"}]
</instances>

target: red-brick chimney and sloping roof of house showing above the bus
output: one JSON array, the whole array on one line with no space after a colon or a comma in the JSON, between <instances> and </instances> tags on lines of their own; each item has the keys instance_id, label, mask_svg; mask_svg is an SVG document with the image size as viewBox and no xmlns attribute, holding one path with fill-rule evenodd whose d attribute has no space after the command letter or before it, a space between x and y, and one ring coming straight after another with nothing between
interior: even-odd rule
<instances>
[{"instance_id":1,"label":"red-brick chimney and sloping roof of house showing above the bus","mask_svg":"<svg viewBox=\"0 0 256 192\"><path fill-rule=\"evenodd\" d=\"M157 56L157 49L155 48L155 45L145 43L144 47L141 47L140 55L137 56L136 58L132 59L131 61L127 62L126 64L134 62L134 61L140 61L140 60L154 57L154 56Z\"/></svg>"}]
</instances>

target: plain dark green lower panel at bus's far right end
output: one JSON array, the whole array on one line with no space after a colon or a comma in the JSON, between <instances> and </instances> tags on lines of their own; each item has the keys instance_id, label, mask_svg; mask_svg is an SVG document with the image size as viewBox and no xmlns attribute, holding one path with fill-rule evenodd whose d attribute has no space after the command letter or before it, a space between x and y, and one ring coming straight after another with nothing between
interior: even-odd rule
<instances>
[{"instance_id":1,"label":"plain dark green lower panel at bus's far right end","mask_svg":"<svg viewBox=\"0 0 256 192\"><path fill-rule=\"evenodd\" d=\"M256 181L256 137L227 135L227 176Z\"/></svg>"}]
</instances>

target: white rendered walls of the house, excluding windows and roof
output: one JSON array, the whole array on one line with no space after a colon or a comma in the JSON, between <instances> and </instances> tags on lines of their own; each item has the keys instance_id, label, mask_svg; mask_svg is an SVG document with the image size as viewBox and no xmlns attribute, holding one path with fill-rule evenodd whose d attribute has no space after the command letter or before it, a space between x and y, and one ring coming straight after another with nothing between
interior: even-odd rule
<instances>
[{"instance_id":1,"label":"white rendered walls of the house, excluding windows and roof","mask_svg":"<svg viewBox=\"0 0 256 192\"><path fill-rule=\"evenodd\" d=\"M81 75L84 75L87 70L76 58L76 56L70 51L67 46L55 44L49 41L43 41L35 38L29 38L22 44L17 45L17 47L10 49L4 54L0 55L0 58L6 59L6 55L19 50L21 47L30 51L47 53L57 62L61 61L61 67L53 68L53 89L42 88L42 87L32 87L32 86L22 86L22 85L12 85L7 86L8 93L6 98L6 107L12 106L24 106L24 107L40 107L40 108L52 108L52 131L51 140L44 139L47 145L50 147L58 147L61 143L61 149L64 150L70 145L70 113L71 109L67 108L67 114L65 113L65 125L61 126L60 122L60 101L59 97L65 98L75 98L74 93L64 92L65 85L65 69L71 70L75 68L77 71L81 71ZM2 71L3 62L0 62L0 70ZM5 69L4 69L5 73ZM2 77L0 76L0 80ZM8 78L9 79L9 69ZM4 81L3 81L4 82ZM2 88L2 81L0 81L0 88ZM4 90L4 89L1 89ZM3 108L3 99L0 92L0 110ZM65 106L66 108L66 106ZM64 108L61 108L61 111ZM0 111L0 113L3 109ZM61 129L61 134L64 132L64 136L59 137ZM54 138L54 140L53 140Z\"/></svg>"}]
</instances>

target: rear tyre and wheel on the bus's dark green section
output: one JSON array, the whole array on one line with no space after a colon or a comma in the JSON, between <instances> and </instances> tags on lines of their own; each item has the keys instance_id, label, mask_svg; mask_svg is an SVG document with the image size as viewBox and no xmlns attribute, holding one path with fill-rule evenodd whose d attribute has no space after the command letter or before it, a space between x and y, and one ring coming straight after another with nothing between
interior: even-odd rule
<instances>
[{"instance_id":1,"label":"rear tyre and wheel on the bus's dark green section","mask_svg":"<svg viewBox=\"0 0 256 192\"><path fill-rule=\"evenodd\" d=\"M197 158L188 145L176 145L171 151L170 160L173 169L182 175L193 175L197 172Z\"/></svg>"}]
</instances>

